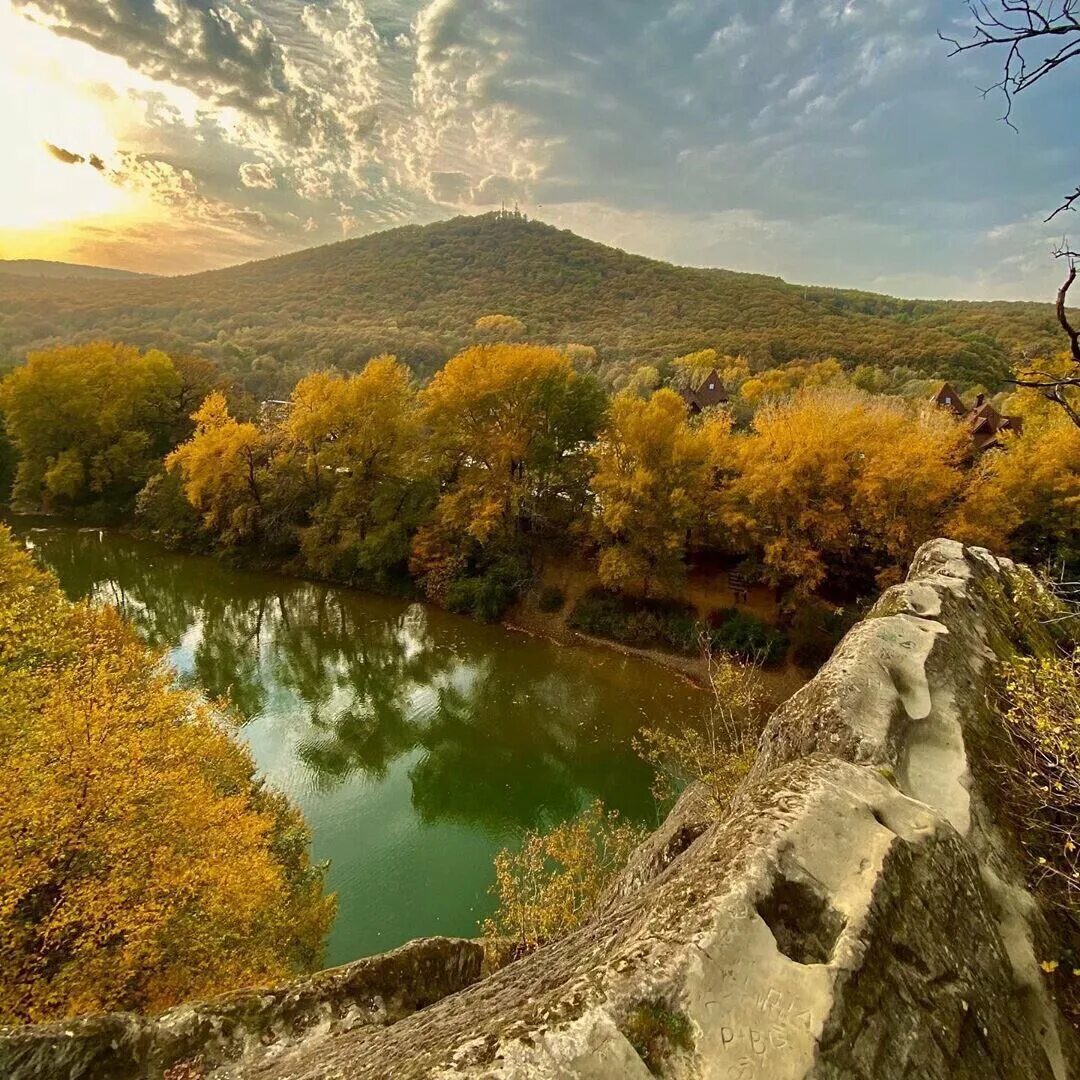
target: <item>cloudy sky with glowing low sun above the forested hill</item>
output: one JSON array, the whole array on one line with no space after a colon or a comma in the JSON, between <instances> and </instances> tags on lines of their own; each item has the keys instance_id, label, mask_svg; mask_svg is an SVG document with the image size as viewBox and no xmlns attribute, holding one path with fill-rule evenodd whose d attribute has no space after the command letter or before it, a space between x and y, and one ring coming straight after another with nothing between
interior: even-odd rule
<instances>
[{"instance_id":1,"label":"cloudy sky with glowing low sun above the forested hill","mask_svg":"<svg viewBox=\"0 0 1080 1080\"><path fill-rule=\"evenodd\" d=\"M1013 131L980 92L1001 57L937 37L970 25L962 0L0 0L0 257L187 273L505 202L691 266L1049 299L1080 64Z\"/></svg>"}]
</instances>

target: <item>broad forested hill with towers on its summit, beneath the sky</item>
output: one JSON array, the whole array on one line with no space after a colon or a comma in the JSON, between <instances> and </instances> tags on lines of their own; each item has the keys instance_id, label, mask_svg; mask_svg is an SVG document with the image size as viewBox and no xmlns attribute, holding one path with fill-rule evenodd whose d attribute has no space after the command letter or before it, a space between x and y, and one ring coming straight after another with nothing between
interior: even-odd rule
<instances>
[{"instance_id":1,"label":"broad forested hill with towers on its summit, beneath the sky","mask_svg":"<svg viewBox=\"0 0 1080 1080\"><path fill-rule=\"evenodd\" d=\"M1018 351L1061 348L1050 305L897 300L688 269L489 214L183 278L0 272L0 355L119 339L210 356L260 391L380 352L427 375L489 313L518 318L531 340L594 346L608 375L715 348L760 366L836 356L994 387Z\"/></svg>"}]
</instances>

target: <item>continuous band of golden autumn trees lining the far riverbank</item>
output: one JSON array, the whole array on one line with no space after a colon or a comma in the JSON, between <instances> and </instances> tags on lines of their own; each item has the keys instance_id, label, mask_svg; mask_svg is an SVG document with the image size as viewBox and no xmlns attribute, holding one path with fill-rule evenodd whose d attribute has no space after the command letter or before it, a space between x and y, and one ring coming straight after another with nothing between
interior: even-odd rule
<instances>
[{"instance_id":1,"label":"continuous band of golden autumn trees lining the far riverbank","mask_svg":"<svg viewBox=\"0 0 1080 1080\"><path fill-rule=\"evenodd\" d=\"M259 410L205 362L96 343L33 354L0 410L16 503L134 507L177 546L419 589L485 619L550 555L584 554L611 593L571 621L683 651L692 620L648 605L677 593L690 557L738 564L804 609L873 594L943 532L1075 562L1080 431L1037 392L1009 399L1023 433L976 456L944 409L860 389L836 363L680 363L710 361L734 406L697 418L670 388L609 399L566 351L507 342L465 349L422 388L379 356ZM625 597L645 602L629 629ZM729 616L720 636L745 636Z\"/></svg>"}]
</instances>

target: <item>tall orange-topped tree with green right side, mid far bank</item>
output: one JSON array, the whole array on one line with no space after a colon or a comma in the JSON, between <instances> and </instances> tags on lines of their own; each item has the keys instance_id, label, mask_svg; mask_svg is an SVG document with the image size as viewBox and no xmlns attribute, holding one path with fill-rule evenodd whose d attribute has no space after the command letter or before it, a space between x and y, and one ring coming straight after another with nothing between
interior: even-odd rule
<instances>
[{"instance_id":1,"label":"tall orange-topped tree with green right side, mid far bank","mask_svg":"<svg viewBox=\"0 0 1080 1080\"><path fill-rule=\"evenodd\" d=\"M420 395L440 480L433 522L414 544L415 570L445 583L469 562L556 537L580 515L605 397L558 349L476 346Z\"/></svg>"}]
</instances>

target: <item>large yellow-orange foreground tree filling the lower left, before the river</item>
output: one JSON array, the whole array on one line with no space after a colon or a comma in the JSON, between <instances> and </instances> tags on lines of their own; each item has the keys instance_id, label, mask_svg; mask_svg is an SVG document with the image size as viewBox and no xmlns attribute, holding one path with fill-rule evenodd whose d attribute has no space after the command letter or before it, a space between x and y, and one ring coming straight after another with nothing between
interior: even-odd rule
<instances>
[{"instance_id":1,"label":"large yellow-orange foreground tree filling the lower left, before the river","mask_svg":"<svg viewBox=\"0 0 1080 1080\"><path fill-rule=\"evenodd\" d=\"M174 679L0 530L0 1023L318 966L334 901L302 819Z\"/></svg>"}]
</instances>

